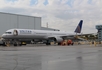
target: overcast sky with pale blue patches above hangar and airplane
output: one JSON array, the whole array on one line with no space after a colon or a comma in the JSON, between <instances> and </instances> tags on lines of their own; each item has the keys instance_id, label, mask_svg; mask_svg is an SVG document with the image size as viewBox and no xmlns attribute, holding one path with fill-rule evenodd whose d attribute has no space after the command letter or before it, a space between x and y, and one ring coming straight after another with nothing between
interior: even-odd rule
<instances>
[{"instance_id":1,"label":"overcast sky with pale blue patches above hangar and airplane","mask_svg":"<svg viewBox=\"0 0 102 70\"><path fill-rule=\"evenodd\" d=\"M74 31L83 20L82 33L102 25L102 0L0 0L0 12L42 17L42 26Z\"/></svg>"}]
</instances>

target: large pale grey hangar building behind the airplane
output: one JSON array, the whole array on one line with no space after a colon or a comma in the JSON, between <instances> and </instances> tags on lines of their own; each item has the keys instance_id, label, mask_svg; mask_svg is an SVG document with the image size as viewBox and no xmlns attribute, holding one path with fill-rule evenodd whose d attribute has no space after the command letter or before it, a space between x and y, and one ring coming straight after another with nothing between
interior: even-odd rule
<instances>
[{"instance_id":1,"label":"large pale grey hangar building behind the airplane","mask_svg":"<svg viewBox=\"0 0 102 70\"><path fill-rule=\"evenodd\" d=\"M6 30L12 28L57 30L57 29L41 27L41 17L0 12L0 36Z\"/></svg>"}]
</instances>

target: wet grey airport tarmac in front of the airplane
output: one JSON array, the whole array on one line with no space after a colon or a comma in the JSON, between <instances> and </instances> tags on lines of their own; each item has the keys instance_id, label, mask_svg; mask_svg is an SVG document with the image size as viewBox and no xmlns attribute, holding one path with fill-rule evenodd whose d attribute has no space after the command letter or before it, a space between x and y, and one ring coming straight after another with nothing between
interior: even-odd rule
<instances>
[{"instance_id":1,"label":"wet grey airport tarmac in front of the airplane","mask_svg":"<svg viewBox=\"0 0 102 70\"><path fill-rule=\"evenodd\" d=\"M102 70L102 46L1 46L0 70Z\"/></svg>"}]
</instances>

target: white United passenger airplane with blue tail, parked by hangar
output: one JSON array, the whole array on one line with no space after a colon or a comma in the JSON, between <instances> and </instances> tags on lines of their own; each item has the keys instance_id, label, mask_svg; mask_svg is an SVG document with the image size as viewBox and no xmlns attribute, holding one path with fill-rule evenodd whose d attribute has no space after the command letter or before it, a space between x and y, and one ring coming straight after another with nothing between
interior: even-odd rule
<instances>
[{"instance_id":1,"label":"white United passenger airplane with blue tail, parked by hangar","mask_svg":"<svg viewBox=\"0 0 102 70\"><path fill-rule=\"evenodd\" d=\"M66 38L74 38L80 35L82 30L83 20L80 20L75 31L72 33L62 32L62 31L48 31L48 30L34 30L34 29L9 29L3 35L2 38L4 42L13 42L14 46L21 45L21 40L46 40L46 45L50 45L51 40L61 44L61 42Z\"/></svg>"}]
</instances>

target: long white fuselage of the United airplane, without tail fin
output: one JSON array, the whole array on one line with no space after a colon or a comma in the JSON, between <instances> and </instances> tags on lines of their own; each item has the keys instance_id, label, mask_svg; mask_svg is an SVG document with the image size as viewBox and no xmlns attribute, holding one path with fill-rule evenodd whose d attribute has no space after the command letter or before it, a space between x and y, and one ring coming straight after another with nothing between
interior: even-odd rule
<instances>
[{"instance_id":1,"label":"long white fuselage of the United airplane, without tail fin","mask_svg":"<svg viewBox=\"0 0 102 70\"><path fill-rule=\"evenodd\" d=\"M48 31L48 30L32 30L32 29L10 29L7 30L2 38L4 39L48 39L50 37L71 36L75 33Z\"/></svg>"}]
</instances>

